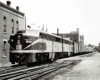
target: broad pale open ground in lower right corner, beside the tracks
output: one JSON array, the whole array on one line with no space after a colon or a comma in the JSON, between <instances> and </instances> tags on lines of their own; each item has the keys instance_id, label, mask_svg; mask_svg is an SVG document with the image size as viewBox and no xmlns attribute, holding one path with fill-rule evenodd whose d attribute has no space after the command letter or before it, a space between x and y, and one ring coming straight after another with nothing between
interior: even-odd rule
<instances>
[{"instance_id":1,"label":"broad pale open ground in lower right corner, beside the tracks","mask_svg":"<svg viewBox=\"0 0 100 80\"><path fill-rule=\"evenodd\" d=\"M100 80L100 53L84 58L70 72L57 75L52 80Z\"/></svg>"}]
</instances>

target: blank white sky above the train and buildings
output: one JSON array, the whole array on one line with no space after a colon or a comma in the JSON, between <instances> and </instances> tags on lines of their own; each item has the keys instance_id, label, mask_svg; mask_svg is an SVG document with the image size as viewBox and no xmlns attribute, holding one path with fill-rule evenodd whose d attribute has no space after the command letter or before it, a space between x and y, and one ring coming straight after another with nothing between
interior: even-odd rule
<instances>
[{"instance_id":1,"label":"blank white sky above the train and buildings","mask_svg":"<svg viewBox=\"0 0 100 80\"><path fill-rule=\"evenodd\" d=\"M6 4L7 0L0 0ZM100 0L10 0L20 7L32 28L47 27L49 33L69 33L79 28L84 43L100 42ZM39 28L39 27L38 27Z\"/></svg>"}]
</instances>

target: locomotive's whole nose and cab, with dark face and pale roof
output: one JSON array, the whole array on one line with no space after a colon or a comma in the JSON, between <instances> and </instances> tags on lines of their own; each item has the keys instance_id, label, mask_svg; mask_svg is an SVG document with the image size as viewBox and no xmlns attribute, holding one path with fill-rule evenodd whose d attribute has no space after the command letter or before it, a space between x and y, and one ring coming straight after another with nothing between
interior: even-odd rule
<instances>
[{"instance_id":1,"label":"locomotive's whole nose and cab, with dark face and pale roof","mask_svg":"<svg viewBox=\"0 0 100 80\"><path fill-rule=\"evenodd\" d=\"M38 39L36 30L20 30L15 35L11 35L9 40L10 62L12 64L35 62Z\"/></svg>"}]
</instances>

